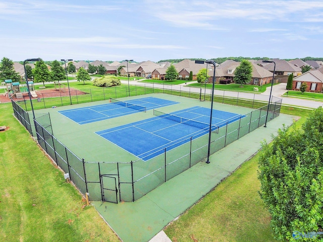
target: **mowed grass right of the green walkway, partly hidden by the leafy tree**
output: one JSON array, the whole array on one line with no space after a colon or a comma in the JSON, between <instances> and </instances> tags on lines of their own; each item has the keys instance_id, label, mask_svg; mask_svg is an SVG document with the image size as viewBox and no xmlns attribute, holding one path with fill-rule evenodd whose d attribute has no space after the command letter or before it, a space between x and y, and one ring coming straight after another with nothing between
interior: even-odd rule
<instances>
[{"instance_id":1,"label":"mowed grass right of the green walkway, partly hidden by the leafy tree","mask_svg":"<svg viewBox=\"0 0 323 242\"><path fill-rule=\"evenodd\" d=\"M282 107L282 112L302 117L311 110ZM164 231L173 242L180 241L276 241L270 227L271 215L258 195L258 157L246 161L213 191L188 209Z\"/></svg>"}]
</instances>

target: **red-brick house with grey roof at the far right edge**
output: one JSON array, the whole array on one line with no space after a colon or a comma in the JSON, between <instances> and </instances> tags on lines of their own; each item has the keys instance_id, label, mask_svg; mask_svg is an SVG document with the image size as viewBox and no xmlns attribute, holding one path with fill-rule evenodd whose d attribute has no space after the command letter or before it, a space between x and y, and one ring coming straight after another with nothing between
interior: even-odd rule
<instances>
[{"instance_id":1,"label":"red-brick house with grey roof at the far right edge","mask_svg":"<svg viewBox=\"0 0 323 242\"><path fill-rule=\"evenodd\" d=\"M307 92L322 92L323 68L310 70L293 79L293 90L300 90L303 82L307 84Z\"/></svg>"}]
</instances>

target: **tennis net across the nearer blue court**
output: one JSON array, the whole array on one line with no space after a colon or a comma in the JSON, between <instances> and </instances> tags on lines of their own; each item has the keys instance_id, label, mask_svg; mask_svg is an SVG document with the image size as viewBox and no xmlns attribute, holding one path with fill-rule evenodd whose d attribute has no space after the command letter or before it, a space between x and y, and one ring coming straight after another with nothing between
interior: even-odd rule
<instances>
[{"instance_id":1,"label":"tennis net across the nearer blue court","mask_svg":"<svg viewBox=\"0 0 323 242\"><path fill-rule=\"evenodd\" d=\"M185 118L185 117L180 117L180 116L177 116L177 115L174 115L174 114L171 114L171 113L158 111L156 109L153 109L153 115L159 116L159 117L164 117L164 118L167 118L167 119L171 119L171 120L173 120L175 122L182 123L182 124L189 125L189 126L193 126L193 127L199 128L201 130L209 130L209 127L210 127L209 124L199 122L199 121L196 121L196 120L193 120L193 119ZM216 126L216 125L212 125L211 126L211 131L215 132L215 133L218 133L219 132L219 127Z\"/></svg>"}]
</instances>

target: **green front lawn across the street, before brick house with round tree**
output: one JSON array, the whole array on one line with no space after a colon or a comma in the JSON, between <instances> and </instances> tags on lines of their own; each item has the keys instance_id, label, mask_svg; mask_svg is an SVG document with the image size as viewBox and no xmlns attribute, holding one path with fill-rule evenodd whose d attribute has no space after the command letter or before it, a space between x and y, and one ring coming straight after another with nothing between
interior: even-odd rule
<instances>
[{"instance_id":1,"label":"green front lawn across the street, before brick house with round tree","mask_svg":"<svg viewBox=\"0 0 323 242\"><path fill-rule=\"evenodd\" d=\"M214 89L221 89L221 90L228 90L228 91L237 91L237 92L264 92L267 87L270 87L272 84L268 83L265 85L262 85L262 87L257 86L257 85L249 85L245 84L242 85L241 87L240 84L232 83L232 84L214 84ZM277 85L277 84L274 84ZM189 84L188 86L193 86L193 87L202 87L204 88L205 84L204 83L192 83ZM258 88L258 92L254 91L253 88L256 87ZM212 88L212 84L207 83L206 88Z\"/></svg>"}]
</instances>

